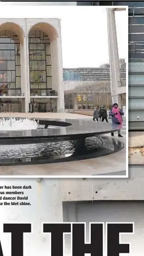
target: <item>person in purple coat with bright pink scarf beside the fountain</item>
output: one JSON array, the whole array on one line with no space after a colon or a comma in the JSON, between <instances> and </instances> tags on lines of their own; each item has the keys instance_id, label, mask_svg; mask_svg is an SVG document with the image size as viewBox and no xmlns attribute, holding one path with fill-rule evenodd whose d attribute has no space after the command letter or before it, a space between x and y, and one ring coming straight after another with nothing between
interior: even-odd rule
<instances>
[{"instance_id":1,"label":"person in purple coat with bright pink scarf beside the fountain","mask_svg":"<svg viewBox=\"0 0 144 256\"><path fill-rule=\"evenodd\" d=\"M118 108L117 103L113 104L112 109L109 112L109 115L111 117L112 124L118 124L122 126L122 115L124 115L124 113L121 108ZM111 132L111 136L114 136L114 132ZM121 135L121 130L118 130L118 137L123 137Z\"/></svg>"}]
</instances>

